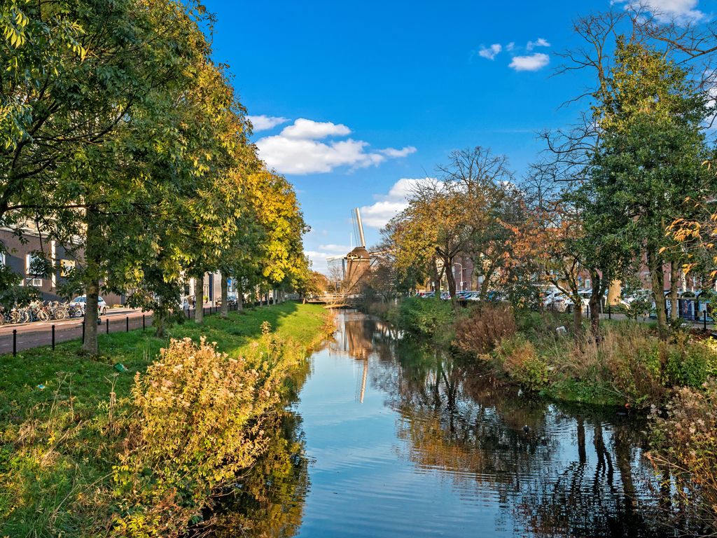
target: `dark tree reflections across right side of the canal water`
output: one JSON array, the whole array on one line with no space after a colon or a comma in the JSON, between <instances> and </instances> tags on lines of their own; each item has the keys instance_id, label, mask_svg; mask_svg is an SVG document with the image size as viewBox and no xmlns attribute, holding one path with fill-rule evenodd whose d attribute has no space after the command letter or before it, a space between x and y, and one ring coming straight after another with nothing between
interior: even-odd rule
<instances>
[{"instance_id":1,"label":"dark tree reflections across right side of the canal water","mask_svg":"<svg viewBox=\"0 0 717 538\"><path fill-rule=\"evenodd\" d=\"M355 335L353 330L371 334ZM371 341L371 383L399 412L405 458L457 489L495 499L517 535L694 536L642 456L640 417L576 410L505 387L444 351L386 339L384 324L346 326ZM661 477L665 478L665 477Z\"/></svg>"}]
</instances>

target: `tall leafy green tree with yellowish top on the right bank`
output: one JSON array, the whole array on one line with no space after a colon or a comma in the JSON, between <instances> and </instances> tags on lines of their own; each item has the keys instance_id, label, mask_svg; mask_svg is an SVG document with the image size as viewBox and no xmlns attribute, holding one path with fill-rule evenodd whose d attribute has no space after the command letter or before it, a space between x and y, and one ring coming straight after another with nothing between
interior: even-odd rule
<instances>
[{"instance_id":1,"label":"tall leafy green tree with yellowish top on the right bank","mask_svg":"<svg viewBox=\"0 0 717 538\"><path fill-rule=\"evenodd\" d=\"M587 188L600 211L596 220L619 229L622 249L637 263L645 261L658 331L665 339L663 267L671 246L665 229L675 216L689 212L685 198L699 194L704 184L706 103L683 68L623 38L611 75L606 92L597 96L603 133Z\"/></svg>"}]
</instances>

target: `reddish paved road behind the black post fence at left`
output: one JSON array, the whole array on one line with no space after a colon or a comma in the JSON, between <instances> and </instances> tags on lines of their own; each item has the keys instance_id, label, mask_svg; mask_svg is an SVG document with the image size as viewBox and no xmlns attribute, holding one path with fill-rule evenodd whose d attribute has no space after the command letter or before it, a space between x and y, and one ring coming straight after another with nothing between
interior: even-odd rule
<instances>
[{"instance_id":1,"label":"reddish paved road behind the black post fence at left","mask_svg":"<svg viewBox=\"0 0 717 538\"><path fill-rule=\"evenodd\" d=\"M110 310L105 316L101 316L102 326L100 331L105 333L126 331L129 329L142 329L141 311L133 310ZM145 313L146 326L151 326L151 313ZM16 334L16 349L22 351L37 346L49 346L52 344L52 326L54 325L54 341L56 344L68 340L82 338L82 318L70 318L53 321L34 321L29 324L3 325L0 326L0 354L12 353L13 331Z\"/></svg>"}]
</instances>

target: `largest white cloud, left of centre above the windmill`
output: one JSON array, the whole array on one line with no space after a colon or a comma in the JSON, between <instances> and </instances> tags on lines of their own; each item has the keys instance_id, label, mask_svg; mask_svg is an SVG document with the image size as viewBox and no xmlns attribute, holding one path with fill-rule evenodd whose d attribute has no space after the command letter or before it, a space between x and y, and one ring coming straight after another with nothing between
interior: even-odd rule
<instances>
[{"instance_id":1,"label":"largest white cloud, left of centre above the windmill","mask_svg":"<svg viewBox=\"0 0 717 538\"><path fill-rule=\"evenodd\" d=\"M257 148L266 164L281 174L324 173L339 166L364 168L416 151L412 146L369 150L368 142L352 138L319 141L320 138L347 136L350 133L351 129L341 123L299 118L278 135L260 138Z\"/></svg>"}]
</instances>

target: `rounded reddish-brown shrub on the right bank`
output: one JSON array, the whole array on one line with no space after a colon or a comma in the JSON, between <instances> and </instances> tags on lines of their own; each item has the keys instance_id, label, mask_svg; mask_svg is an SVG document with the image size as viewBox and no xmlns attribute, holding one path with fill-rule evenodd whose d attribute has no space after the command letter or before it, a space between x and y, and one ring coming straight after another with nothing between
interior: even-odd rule
<instances>
[{"instance_id":1,"label":"rounded reddish-brown shrub on the right bank","mask_svg":"<svg viewBox=\"0 0 717 538\"><path fill-rule=\"evenodd\" d=\"M474 308L467 318L457 321L455 345L466 353L483 354L513 334L516 334L513 309L504 303L486 303Z\"/></svg>"}]
</instances>

